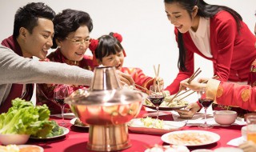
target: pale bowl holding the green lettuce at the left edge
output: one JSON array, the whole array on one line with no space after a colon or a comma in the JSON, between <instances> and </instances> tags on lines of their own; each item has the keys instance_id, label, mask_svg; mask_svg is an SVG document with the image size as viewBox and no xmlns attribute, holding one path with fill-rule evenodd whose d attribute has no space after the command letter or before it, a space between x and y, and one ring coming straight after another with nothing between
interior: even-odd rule
<instances>
[{"instance_id":1,"label":"pale bowl holding the green lettuce at the left edge","mask_svg":"<svg viewBox=\"0 0 256 152\"><path fill-rule=\"evenodd\" d=\"M0 134L0 142L2 145L25 144L30 138L29 134Z\"/></svg>"}]
</instances>

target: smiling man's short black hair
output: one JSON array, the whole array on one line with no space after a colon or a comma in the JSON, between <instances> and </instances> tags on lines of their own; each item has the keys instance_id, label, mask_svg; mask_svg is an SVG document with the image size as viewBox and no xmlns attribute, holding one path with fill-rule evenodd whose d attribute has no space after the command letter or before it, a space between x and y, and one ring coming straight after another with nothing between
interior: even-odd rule
<instances>
[{"instance_id":1,"label":"smiling man's short black hair","mask_svg":"<svg viewBox=\"0 0 256 152\"><path fill-rule=\"evenodd\" d=\"M14 38L18 38L21 27L26 28L32 34L35 26L38 26L38 18L53 20L54 10L42 2L31 2L20 7L14 18Z\"/></svg>"}]
</instances>

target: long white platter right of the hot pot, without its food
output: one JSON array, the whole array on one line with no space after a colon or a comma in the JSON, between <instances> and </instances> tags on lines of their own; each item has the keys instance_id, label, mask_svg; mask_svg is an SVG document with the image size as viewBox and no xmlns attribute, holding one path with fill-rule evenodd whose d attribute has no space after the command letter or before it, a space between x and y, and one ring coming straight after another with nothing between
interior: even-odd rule
<instances>
[{"instance_id":1,"label":"long white platter right of the hot pot, without its food","mask_svg":"<svg viewBox=\"0 0 256 152\"><path fill-rule=\"evenodd\" d=\"M127 123L129 130L138 133L166 134L170 131L181 130L186 126L186 122L163 121L164 129L149 128L143 125L140 118L133 118Z\"/></svg>"}]
</instances>

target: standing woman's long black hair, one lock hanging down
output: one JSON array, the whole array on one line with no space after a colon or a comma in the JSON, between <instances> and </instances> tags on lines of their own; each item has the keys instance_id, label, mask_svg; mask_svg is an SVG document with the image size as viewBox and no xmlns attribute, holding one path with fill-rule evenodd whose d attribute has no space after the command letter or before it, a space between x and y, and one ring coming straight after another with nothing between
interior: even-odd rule
<instances>
[{"instance_id":1,"label":"standing woman's long black hair, one lock hanging down","mask_svg":"<svg viewBox=\"0 0 256 152\"><path fill-rule=\"evenodd\" d=\"M193 12L194 6L198 6L198 16L203 18L212 18L215 14L217 14L221 10L226 10L233 17L235 22L238 25L238 32L241 28L242 17L238 12L232 10L227 6L218 6L218 5L210 5L203 0L164 0L165 3L178 3L182 8L187 10L190 14L190 18L192 18L191 13ZM182 33L178 31L178 47L179 47L179 57L178 57L178 69L182 71L187 71L185 62L186 62L186 49L183 44Z\"/></svg>"}]
</instances>

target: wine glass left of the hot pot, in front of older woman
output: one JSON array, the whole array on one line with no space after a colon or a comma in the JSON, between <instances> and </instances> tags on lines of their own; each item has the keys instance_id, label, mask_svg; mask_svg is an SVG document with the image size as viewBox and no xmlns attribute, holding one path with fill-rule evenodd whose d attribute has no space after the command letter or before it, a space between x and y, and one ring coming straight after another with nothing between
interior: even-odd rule
<instances>
[{"instance_id":1,"label":"wine glass left of the hot pot, in front of older woman","mask_svg":"<svg viewBox=\"0 0 256 152\"><path fill-rule=\"evenodd\" d=\"M66 106L64 99L69 97L69 95L70 87L68 85L58 85L54 89L54 101L57 102L59 106L61 106L62 110L62 122L59 124L60 126L67 126L66 122L64 122L64 109Z\"/></svg>"}]
</instances>

